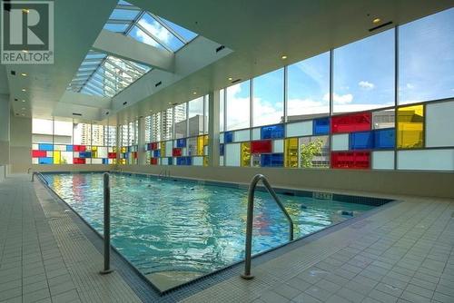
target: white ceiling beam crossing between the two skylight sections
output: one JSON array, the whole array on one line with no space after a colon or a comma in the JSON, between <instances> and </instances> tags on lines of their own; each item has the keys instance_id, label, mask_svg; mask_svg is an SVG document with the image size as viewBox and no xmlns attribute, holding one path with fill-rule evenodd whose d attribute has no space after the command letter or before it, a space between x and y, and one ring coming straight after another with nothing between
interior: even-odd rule
<instances>
[{"instance_id":1,"label":"white ceiling beam crossing between the two skylight sections","mask_svg":"<svg viewBox=\"0 0 454 303\"><path fill-rule=\"evenodd\" d=\"M133 38L108 30L101 31L94 42L93 49L115 57L133 61L138 64L173 73L174 54L163 51L152 45L143 44Z\"/></svg>"}]
</instances>

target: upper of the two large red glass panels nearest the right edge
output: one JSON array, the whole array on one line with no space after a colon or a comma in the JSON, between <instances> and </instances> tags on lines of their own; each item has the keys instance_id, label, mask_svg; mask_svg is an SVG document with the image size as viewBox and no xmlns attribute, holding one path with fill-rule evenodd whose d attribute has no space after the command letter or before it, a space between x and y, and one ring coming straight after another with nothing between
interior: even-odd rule
<instances>
[{"instance_id":1,"label":"upper of the two large red glass panels nearest the right edge","mask_svg":"<svg viewBox=\"0 0 454 303\"><path fill-rule=\"evenodd\" d=\"M331 132L370 131L372 114L370 112L354 113L331 117Z\"/></svg>"}]
</instances>

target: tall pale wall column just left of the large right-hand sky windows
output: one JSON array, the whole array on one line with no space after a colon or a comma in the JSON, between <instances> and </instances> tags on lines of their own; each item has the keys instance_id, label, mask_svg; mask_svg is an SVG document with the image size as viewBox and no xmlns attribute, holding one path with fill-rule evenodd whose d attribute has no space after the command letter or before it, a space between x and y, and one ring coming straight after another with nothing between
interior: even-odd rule
<instances>
[{"instance_id":1,"label":"tall pale wall column just left of the large right-hand sky windows","mask_svg":"<svg viewBox=\"0 0 454 303\"><path fill-rule=\"evenodd\" d=\"M219 166L219 90L208 93L208 166Z\"/></svg>"}]
</instances>

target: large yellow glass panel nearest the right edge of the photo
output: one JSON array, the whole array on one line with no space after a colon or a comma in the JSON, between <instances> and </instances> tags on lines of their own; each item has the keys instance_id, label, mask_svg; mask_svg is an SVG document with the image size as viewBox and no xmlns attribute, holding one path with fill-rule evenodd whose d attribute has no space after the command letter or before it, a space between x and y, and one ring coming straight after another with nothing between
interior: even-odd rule
<instances>
[{"instance_id":1,"label":"large yellow glass panel nearest the right edge of the photo","mask_svg":"<svg viewBox=\"0 0 454 303\"><path fill-rule=\"evenodd\" d=\"M424 106L398 108L397 147L411 149L424 147Z\"/></svg>"}]
</instances>

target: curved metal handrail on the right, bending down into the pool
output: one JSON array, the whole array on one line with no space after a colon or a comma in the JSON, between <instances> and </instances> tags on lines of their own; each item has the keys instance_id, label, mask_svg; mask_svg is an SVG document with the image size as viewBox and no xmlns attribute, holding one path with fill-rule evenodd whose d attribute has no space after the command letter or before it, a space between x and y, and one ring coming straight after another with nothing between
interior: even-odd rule
<instances>
[{"instance_id":1,"label":"curved metal handrail on the right, bending down into the pool","mask_svg":"<svg viewBox=\"0 0 454 303\"><path fill-rule=\"evenodd\" d=\"M244 261L244 274L242 274L242 279L252 279L251 275L251 263L252 263L252 223L253 223L253 208L254 208L254 193L257 183L262 181L266 190L271 194L271 197L276 201L279 208L282 210L283 214L289 221L289 239L293 240L293 220L287 210L285 210L281 200L277 196L276 192L272 189L270 182L262 174L257 174L253 177L251 185L249 186L248 191L248 214L246 221L246 249L245 249L245 261Z\"/></svg>"}]
</instances>

